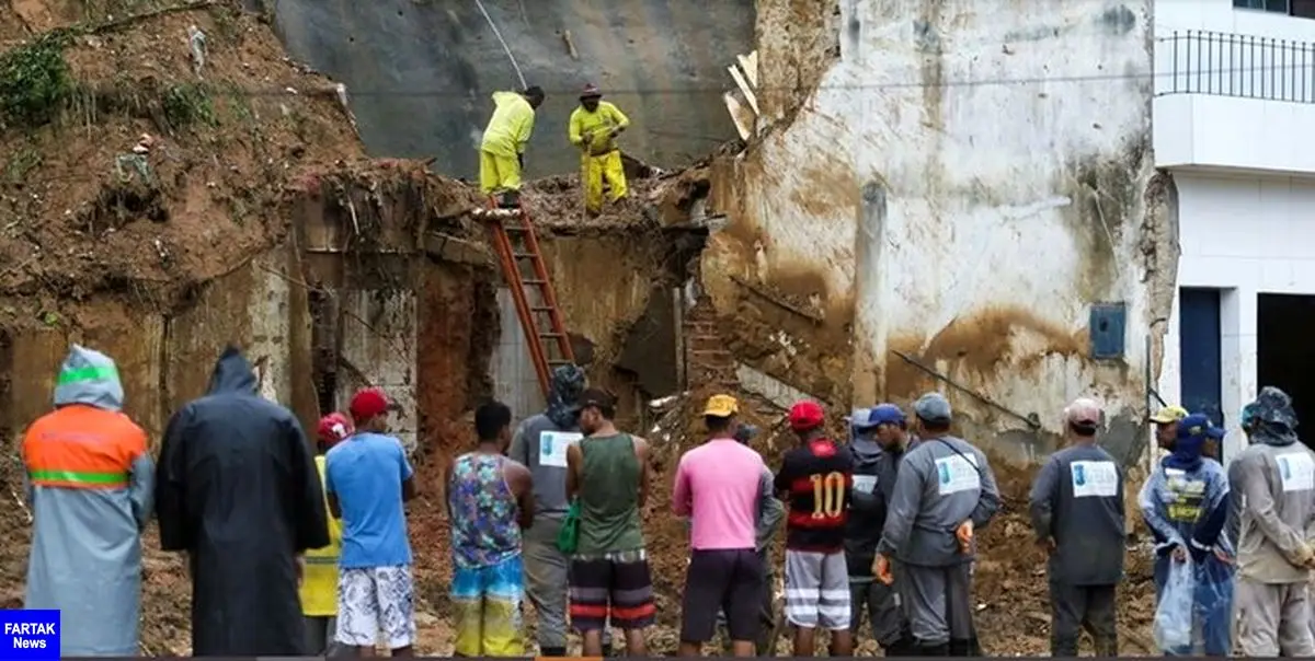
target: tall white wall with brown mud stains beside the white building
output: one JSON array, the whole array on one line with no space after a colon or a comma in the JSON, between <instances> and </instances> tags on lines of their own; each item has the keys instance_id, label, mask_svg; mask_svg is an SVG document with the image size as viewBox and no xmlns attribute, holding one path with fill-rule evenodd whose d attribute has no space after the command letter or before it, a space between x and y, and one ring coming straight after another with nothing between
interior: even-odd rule
<instances>
[{"instance_id":1,"label":"tall white wall with brown mud stains beside the white building","mask_svg":"<svg viewBox=\"0 0 1315 661\"><path fill-rule=\"evenodd\" d=\"M759 21L797 5L760 1ZM738 330L738 353L838 405L851 393L818 392L819 372L836 373L818 365L852 375L855 403L945 390L963 432L1022 459L1052 448L1065 401L1094 394L1131 451L1145 339L1159 343L1151 322L1168 311L1155 290L1172 285L1147 240L1165 217L1147 194L1148 5L838 9L792 43L760 41L764 80L815 71L797 45L826 43L819 30L835 30L839 59L713 172L731 222L705 252L709 294L723 315L776 326ZM1098 302L1127 305L1122 360L1089 357Z\"/></svg>"}]
</instances>

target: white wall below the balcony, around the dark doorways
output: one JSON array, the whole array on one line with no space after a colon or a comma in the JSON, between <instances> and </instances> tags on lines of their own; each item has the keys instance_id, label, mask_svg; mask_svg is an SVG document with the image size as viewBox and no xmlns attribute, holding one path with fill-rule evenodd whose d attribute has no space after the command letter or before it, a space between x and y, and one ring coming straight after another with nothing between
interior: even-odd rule
<instances>
[{"instance_id":1,"label":"white wall below the balcony, around the dark doorways","mask_svg":"<svg viewBox=\"0 0 1315 661\"><path fill-rule=\"evenodd\" d=\"M1244 447L1237 411L1256 397L1256 306L1261 293L1315 293L1315 181L1176 175L1180 286L1223 289L1224 456ZM1180 397L1178 304L1165 336L1160 394Z\"/></svg>"}]
</instances>

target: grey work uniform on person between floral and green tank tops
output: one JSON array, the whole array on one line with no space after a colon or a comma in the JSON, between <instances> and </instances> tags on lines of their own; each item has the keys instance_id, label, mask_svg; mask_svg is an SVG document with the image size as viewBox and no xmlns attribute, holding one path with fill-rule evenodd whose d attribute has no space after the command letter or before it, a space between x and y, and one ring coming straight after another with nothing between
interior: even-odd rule
<instances>
[{"instance_id":1,"label":"grey work uniform on person between floral and green tank tops","mask_svg":"<svg viewBox=\"0 0 1315 661\"><path fill-rule=\"evenodd\" d=\"M534 524L522 535L525 587L538 612L539 648L567 647L569 558L558 551L558 534L567 515L567 447L583 438L579 427L559 427L546 414L521 422L508 456L534 476ZM604 644L610 632L604 629Z\"/></svg>"}]
</instances>

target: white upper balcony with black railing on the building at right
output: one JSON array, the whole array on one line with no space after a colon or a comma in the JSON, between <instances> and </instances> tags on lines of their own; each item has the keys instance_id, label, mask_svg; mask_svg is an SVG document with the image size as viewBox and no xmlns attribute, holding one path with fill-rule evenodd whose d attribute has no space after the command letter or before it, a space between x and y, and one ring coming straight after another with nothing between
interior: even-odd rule
<instances>
[{"instance_id":1,"label":"white upper balcony with black railing on the building at right","mask_svg":"<svg viewBox=\"0 0 1315 661\"><path fill-rule=\"evenodd\" d=\"M1159 0L1155 35L1157 167L1315 172L1315 20Z\"/></svg>"}]
</instances>

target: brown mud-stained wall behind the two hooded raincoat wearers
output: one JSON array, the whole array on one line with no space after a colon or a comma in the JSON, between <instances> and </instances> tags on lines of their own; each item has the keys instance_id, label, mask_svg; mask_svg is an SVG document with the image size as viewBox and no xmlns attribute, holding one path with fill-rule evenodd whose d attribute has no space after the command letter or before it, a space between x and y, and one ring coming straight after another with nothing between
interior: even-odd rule
<instances>
[{"instance_id":1,"label":"brown mud-stained wall behind the two hooded raincoat wearers","mask_svg":"<svg viewBox=\"0 0 1315 661\"><path fill-rule=\"evenodd\" d=\"M171 315L143 314L141 301L101 298L78 306L76 327L51 323L14 330L13 375L7 409L18 432L50 411L59 365L72 342L103 351L118 364L125 413L159 443L168 417L205 393L220 352L237 343L264 375L266 392L314 421L309 378L309 314L305 292L289 286L296 276L287 248L274 250L199 285L191 305ZM4 367L4 365L0 365Z\"/></svg>"}]
</instances>

